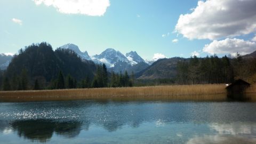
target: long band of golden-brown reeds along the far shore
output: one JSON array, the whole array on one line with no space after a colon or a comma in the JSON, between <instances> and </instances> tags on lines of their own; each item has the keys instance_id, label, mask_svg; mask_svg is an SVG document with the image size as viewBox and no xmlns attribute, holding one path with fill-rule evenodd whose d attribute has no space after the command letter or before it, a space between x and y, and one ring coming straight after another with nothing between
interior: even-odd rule
<instances>
[{"instance_id":1,"label":"long band of golden-brown reeds along the far shore","mask_svg":"<svg viewBox=\"0 0 256 144\"><path fill-rule=\"evenodd\" d=\"M117 100L226 100L225 84L170 85L42 91L1 91L0 101ZM248 90L256 92L256 86Z\"/></svg>"}]
</instances>

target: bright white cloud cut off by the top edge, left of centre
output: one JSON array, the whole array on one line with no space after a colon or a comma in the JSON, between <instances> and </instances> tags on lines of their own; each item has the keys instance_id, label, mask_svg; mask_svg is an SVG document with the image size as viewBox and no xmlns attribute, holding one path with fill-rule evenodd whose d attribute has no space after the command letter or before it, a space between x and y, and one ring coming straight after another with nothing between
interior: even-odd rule
<instances>
[{"instance_id":1,"label":"bright white cloud cut off by the top edge, left of centre","mask_svg":"<svg viewBox=\"0 0 256 144\"><path fill-rule=\"evenodd\" d=\"M101 16L110 6L109 0L34 0L36 5L55 7L61 13Z\"/></svg>"}]
</instances>

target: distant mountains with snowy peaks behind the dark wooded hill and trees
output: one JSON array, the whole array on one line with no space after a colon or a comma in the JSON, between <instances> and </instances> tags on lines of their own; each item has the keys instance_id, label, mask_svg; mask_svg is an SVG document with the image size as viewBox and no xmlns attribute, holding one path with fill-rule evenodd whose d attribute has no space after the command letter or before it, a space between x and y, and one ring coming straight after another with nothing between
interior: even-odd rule
<instances>
[{"instance_id":1,"label":"distant mountains with snowy peaks behind the dark wooded hill and trees","mask_svg":"<svg viewBox=\"0 0 256 144\"><path fill-rule=\"evenodd\" d=\"M60 49L74 51L84 61L91 61L97 64L105 63L108 71L114 71L115 73L122 71L124 73L127 70L130 74L133 71L136 78L139 79L174 78L177 75L177 62L186 60L185 58L175 57L146 61L135 51L122 54L111 48L100 54L89 55L87 51L82 52L75 44L62 45ZM13 56L11 55L0 54L0 69L6 69L12 58ZM243 58L256 58L256 51L243 55Z\"/></svg>"}]
</instances>

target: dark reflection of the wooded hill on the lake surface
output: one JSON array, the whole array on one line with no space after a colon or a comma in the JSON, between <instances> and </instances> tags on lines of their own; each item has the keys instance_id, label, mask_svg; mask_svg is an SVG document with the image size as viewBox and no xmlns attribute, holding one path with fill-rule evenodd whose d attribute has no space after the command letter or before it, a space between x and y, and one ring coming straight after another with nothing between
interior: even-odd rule
<instances>
[{"instance_id":1,"label":"dark reflection of the wooded hill on the lake surface","mask_svg":"<svg viewBox=\"0 0 256 144\"><path fill-rule=\"evenodd\" d=\"M2 124L5 124L5 129L9 127L9 129L17 131L19 137L39 142L49 141L54 133L66 138L75 138L80 133L82 126L80 122L56 122L47 119L14 121L9 122L8 126L3 121Z\"/></svg>"}]
</instances>

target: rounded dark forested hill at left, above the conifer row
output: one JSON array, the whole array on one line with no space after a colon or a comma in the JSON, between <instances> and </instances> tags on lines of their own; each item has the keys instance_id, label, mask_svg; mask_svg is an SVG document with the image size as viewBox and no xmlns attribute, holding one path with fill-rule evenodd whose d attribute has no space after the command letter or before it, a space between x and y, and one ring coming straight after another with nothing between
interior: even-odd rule
<instances>
[{"instance_id":1,"label":"rounded dark forested hill at left, above the conifer row","mask_svg":"<svg viewBox=\"0 0 256 144\"><path fill-rule=\"evenodd\" d=\"M22 71L26 71L31 85L35 79L41 85L48 85L54 81L62 71L64 76L71 75L74 79L93 78L96 65L92 61L81 60L77 54L71 50L52 50L52 46L47 43L32 44L25 50L20 50L18 55L14 55L9 67L5 71L5 77L15 83L22 76Z\"/></svg>"}]
</instances>

